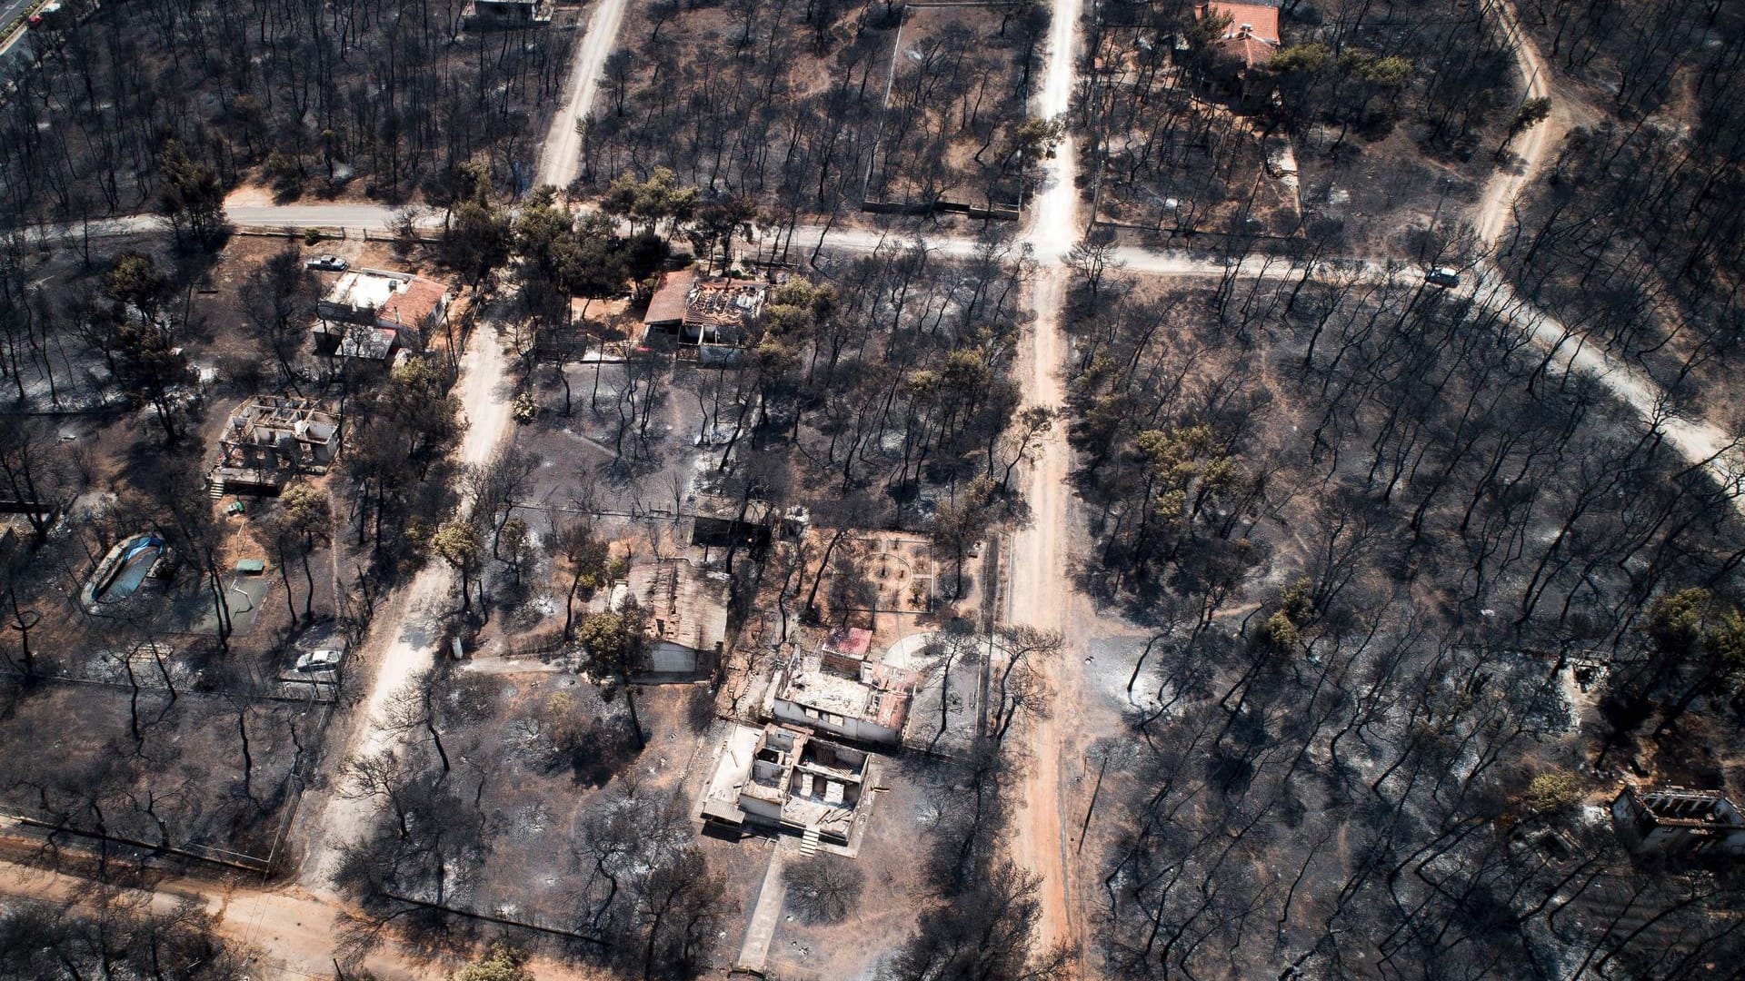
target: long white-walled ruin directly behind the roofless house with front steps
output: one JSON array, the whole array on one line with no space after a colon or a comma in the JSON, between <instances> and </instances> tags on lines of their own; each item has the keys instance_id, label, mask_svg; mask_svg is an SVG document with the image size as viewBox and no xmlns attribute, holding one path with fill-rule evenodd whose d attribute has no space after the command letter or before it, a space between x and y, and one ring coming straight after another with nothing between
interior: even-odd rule
<instances>
[{"instance_id":1,"label":"long white-walled ruin directly behind the roofless house with front steps","mask_svg":"<svg viewBox=\"0 0 1745 981\"><path fill-rule=\"evenodd\" d=\"M921 676L824 649L780 669L764 714L843 738L897 745Z\"/></svg>"}]
</instances>

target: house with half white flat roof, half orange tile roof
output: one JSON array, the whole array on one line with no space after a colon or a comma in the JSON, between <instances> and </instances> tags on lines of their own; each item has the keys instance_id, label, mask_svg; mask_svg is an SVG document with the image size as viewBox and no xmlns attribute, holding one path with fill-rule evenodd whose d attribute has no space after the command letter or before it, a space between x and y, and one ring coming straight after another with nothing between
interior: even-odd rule
<instances>
[{"instance_id":1,"label":"house with half white flat roof, half orange tile roof","mask_svg":"<svg viewBox=\"0 0 1745 981\"><path fill-rule=\"evenodd\" d=\"M321 302L316 351L386 361L396 349L422 349L448 316L448 288L410 272L352 269Z\"/></svg>"}]
</instances>

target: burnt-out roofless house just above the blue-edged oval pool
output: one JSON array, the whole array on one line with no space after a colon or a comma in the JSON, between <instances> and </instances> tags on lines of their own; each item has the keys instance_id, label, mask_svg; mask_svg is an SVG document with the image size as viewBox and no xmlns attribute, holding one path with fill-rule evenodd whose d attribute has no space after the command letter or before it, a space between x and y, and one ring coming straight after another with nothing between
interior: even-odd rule
<instances>
[{"instance_id":1,"label":"burnt-out roofless house just above the blue-edged oval pool","mask_svg":"<svg viewBox=\"0 0 1745 981\"><path fill-rule=\"evenodd\" d=\"M325 473L339 456L339 415L312 398L263 394L239 405L218 436L208 484L223 494L277 494L293 473Z\"/></svg>"}]
</instances>

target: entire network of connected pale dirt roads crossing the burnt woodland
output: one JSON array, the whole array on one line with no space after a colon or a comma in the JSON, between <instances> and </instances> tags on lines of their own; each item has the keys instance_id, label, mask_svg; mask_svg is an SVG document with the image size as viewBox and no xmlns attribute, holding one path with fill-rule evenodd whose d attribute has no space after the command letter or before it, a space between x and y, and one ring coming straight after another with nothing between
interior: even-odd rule
<instances>
[{"instance_id":1,"label":"entire network of connected pale dirt roads crossing the burnt woodland","mask_svg":"<svg viewBox=\"0 0 1745 981\"><path fill-rule=\"evenodd\" d=\"M616 45L626 2L602 0L588 19L576 45L565 103L543 145L541 183L565 187L574 178L579 164L574 120L586 117L593 103L597 80L604 72L606 58ZM1525 93L1553 99L1551 115L1522 138L1513 166L1499 169L1490 178L1471 213L1482 244L1492 246L1509 225L1516 196L1532 182L1544 155L1570 127L1572 106L1577 106L1579 101L1572 101L1569 93L1555 86L1530 37L1520 30L1511 3L1487 0L1485 10L1497 17L1499 30L1513 42L1516 70ZM1047 65L1042 89L1035 99L1035 112L1042 119L1064 117L1070 108L1077 84L1080 12L1082 0L1052 0ZM1064 358L1061 330L1068 286L1064 258L1082 236L1075 192L1077 152L1071 134L1056 148L1047 162L1047 171L1044 190L1030 208L1021 230L1021 241L1037 262L1038 276L1030 297L1037 316L1030 344L1021 354L1019 377L1026 379L1026 401L1057 408L1064 401L1064 382L1057 370ZM386 232L391 211L373 204L234 204L229 208L229 216L239 227L339 227ZM157 220L150 216L113 218L92 222L87 234L122 236L155 230L155 227ZM879 248L886 237L866 229L801 227L794 243L804 241L808 246L824 244L843 251L871 251ZM972 255L977 244L968 236L949 234L920 236L920 241L928 250L946 257ZM1115 260L1126 274L1134 276L1223 276L1230 272L1223 260L1138 246L1119 248ZM1310 269L1310 276L1333 265L1317 265ZM1386 269L1382 262L1361 257L1347 257L1337 265L1345 276L1351 276L1354 267L1359 276L1401 274L1398 269ZM1260 260L1255 260L1253 265L1244 264L1235 272L1246 278L1297 276L1302 274L1302 269L1290 269L1290 264L1276 260L1262 265ZM1543 311L1530 307L1513 293L1494 265L1482 262L1473 271L1471 283L1461 290L1468 292L1473 300L1504 311L1527 326L1536 342L1557 354L1557 367L1564 372L1598 379L1644 424L1658 426L1689 463L1707 468L1722 482L1733 480L1729 477L1729 471L1736 473L1733 470L1736 463L1733 438L1724 429L1703 419L1668 417L1665 393L1647 375L1616 361L1595 346L1583 344L1579 335ZM511 428L511 393L504 377L506 368L501 346L496 344L490 325L485 325L462 360L461 381L455 389L468 417L466 440L457 450L464 463L485 463ZM1073 590L1068 576L1068 545L1077 518L1071 508L1068 447L1063 428L1056 428L1049 435L1031 468L1028 501L1033 520L1012 538L1010 588L1005 597L1007 621L1061 628L1094 620L1098 611L1092 609L1087 597ZM354 712L351 730L342 733L340 751L332 754L332 759L370 752L386 742L382 712L387 696L407 677L429 667L435 653L426 641L428 627L447 600L450 588L448 567L431 564L401 590L391 609L379 620L366 646L373 653L370 656L373 674L366 681L363 710ZM1068 604L1061 604L1057 597L1071 599ZM1016 611L1023 611L1023 614L1016 614ZM1085 719L1087 714L1089 717L1112 714L1115 707L1096 705L1084 695L1082 679L1071 670L1078 663L1080 658L1064 656L1050 665L1050 683L1057 693L1057 705L1052 719L1044 717L1033 723L1026 735L1033 765L1028 768L1026 785L1019 794L1024 806L1014 826L1012 852L1023 866L1042 876L1038 944L1066 944L1068 950L1080 951L1078 965L1085 965L1082 915L1073 901L1078 869L1070 848L1071 820L1068 820L1068 813L1077 813L1084 801L1077 796L1078 789L1068 784L1063 761L1077 759L1084 752L1085 745L1080 744L1085 737L1082 733L1094 731L1096 726L1057 726L1054 719ZM257 964L257 969L263 978L333 978L335 937L346 918L346 902L333 894L328 875L339 847L361 833L372 806L375 806L373 801L342 798L332 789L311 791L300 824L307 829L318 829L318 833L305 834L309 841L305 859L300 875L290 885L246 887L202 880L169 880L155 887L148 902L168 909L187 897L202 901L216 915L220 932L248 943L262 953L263 962ZM44 873L0 861L0 894L66 902L89 895L89 892L91 885L75 876ZM431 964L424 951L396 946L391 939L379 944L365 965L380 978L428 978L431 974ZM541 978L593 978L574 965L536 960L532 967ZM1082 967L1075 969L1075 974L1082 972Z\"/></svg>"}]
</instances>

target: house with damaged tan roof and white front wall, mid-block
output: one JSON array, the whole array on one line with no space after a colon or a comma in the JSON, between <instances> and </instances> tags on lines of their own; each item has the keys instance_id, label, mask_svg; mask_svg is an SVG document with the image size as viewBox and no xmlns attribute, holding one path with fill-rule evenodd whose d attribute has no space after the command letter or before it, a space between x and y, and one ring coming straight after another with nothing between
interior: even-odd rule
<instances>
[{"instance_id":1,"label":"house with damaged tan roof and white front wall, mid-block","mask_svg":"<svg viewBox=\"0 0 1745 981\"><path fill-rule=\"evenodd\" d=\"M612 595L623 609L633 597L644 613L644 670L649 674L710 674L728 639L728 578L705 573L689 559L656 559L630 569Z\"/></svg>"}]
</instances>

